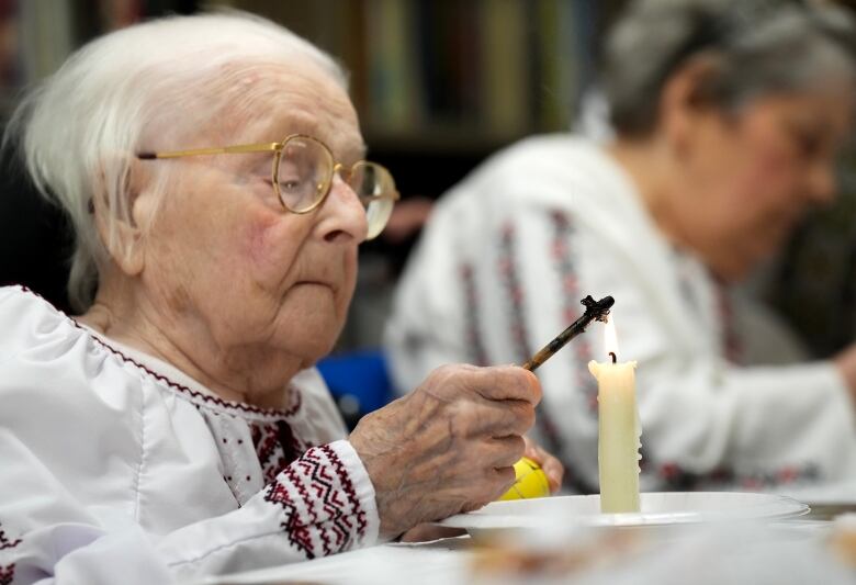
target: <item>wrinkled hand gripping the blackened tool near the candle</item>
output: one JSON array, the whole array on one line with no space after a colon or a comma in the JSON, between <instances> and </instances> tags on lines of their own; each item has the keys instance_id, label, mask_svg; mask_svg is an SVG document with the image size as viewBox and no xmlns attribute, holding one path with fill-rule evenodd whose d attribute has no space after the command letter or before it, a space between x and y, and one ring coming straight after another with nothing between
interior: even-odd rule
<instances>
[{"instance_id":1,"label":"wrinkled hand gripping the blackened tool near the candle","mask_svg":"<svg viewBox=\"0 0 856 585\"><path fill-rule=\"evenodd\" d=\"M514 365L444 365L360 420L350 441L374 485L381 535L477 509L514 483L541 386Z\"/></svg>"}]
</instances>

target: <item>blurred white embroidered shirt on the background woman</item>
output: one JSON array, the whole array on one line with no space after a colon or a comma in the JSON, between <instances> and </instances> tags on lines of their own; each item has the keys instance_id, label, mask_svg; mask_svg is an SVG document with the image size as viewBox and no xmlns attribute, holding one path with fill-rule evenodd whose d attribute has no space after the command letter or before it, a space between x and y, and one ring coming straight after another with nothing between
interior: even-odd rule
<instances>
[{"instance_id":1,"label":"blurred white embroidered shirt on the background woman","mask_svg":"<svg viewBox=\"0 0 856 585\"><path fill-rule=\"evenodd\" d=\"M639 361L644 488L856 477L854 405L837 371L758 364L759 350L791 346L782 327L720 289L697 258L675 254L599 147L533 137L436 206L396 293L386 348L401 391L441 363L522 363L582 314L583 296L610 294L619 358ZM753 349L740 362L754 367L729 360L741 348ZM608 359L599 324L538 371L536 435L564 461L567 486L584 492L598 477L590 359Z\"/></svg>"}]
</instances>

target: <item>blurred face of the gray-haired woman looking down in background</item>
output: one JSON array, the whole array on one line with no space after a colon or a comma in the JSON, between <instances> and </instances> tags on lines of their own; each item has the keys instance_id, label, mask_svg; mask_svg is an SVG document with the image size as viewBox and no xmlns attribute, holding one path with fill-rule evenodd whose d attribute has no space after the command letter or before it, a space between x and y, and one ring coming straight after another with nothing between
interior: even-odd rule
<instances>
[{"instance_id":1,"label":"blurred face of the gray-haired woman looking down in background","mask_svg":"<svg viewBox=\"0 0 856 585\"><path fill-rule=\"evenodd\" d=\"M851 88L840 86L699 116L687 133L685 196L676 198L680 239L727 280L774 252L808 207L834 196L852 103Z\"/></svg>"}]
</instances>

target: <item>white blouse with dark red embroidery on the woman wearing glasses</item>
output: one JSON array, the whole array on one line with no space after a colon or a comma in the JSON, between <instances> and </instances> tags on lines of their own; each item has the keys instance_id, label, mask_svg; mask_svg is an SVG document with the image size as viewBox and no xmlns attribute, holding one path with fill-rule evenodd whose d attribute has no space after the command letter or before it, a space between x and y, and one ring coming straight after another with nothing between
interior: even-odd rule
<instances>
[{"instance_id":1,"label":"white blouse with dark red embroidery on the woman wearing glasses","mask_svg":"<svg viewBox=\"0 0 856 585\"><path fill-rule=\"evenodd\" d=\"M0 289L0 584L167 583L369 545L374 490L320 375L218 398Z\"/></svg>"}]
</instances>

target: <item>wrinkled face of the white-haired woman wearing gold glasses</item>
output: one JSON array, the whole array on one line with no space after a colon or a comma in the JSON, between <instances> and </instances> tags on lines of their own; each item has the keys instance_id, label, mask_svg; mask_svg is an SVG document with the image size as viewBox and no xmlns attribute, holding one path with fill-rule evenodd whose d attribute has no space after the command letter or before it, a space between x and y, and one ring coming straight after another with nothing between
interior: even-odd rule
<instances>
[{"instance_id":1,"label":"wrinkled face of the white-haired woman wearing gold glasses","mask_svg":"<svg viewBox=\"0 0 856 585\"><path fill-rule=\"evenodd\" d=\"M317 69L272 68L245 83L264 85L262 122L214 120L213 127L237 131L158 148L280 142L302 133L326 144L337 161L362 158L348 95ZM296 215L282 207L271 187L270 153L156 164L172 166L173 180L146 237L143 279L162 310L224 356L261 351L311 364L327 353L345 323L357 248L367 233L365 213L351 189L337 176L320 207Z\"/></svg>"}]
</instances>

